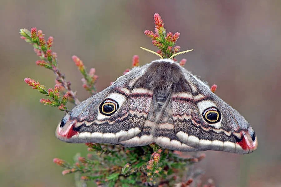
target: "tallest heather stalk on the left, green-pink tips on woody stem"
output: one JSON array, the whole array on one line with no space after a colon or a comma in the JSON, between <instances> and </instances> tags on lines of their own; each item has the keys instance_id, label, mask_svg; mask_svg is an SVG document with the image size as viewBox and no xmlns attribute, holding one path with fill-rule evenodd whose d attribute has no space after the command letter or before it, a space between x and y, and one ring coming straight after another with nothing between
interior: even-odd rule
<instances>
[{"instance_id":1,"label":"tallest heather stalk on the left, green-pink tips on woody stem","mask_svg":"<svg viewBox=\"0 0 281 187\"><path fill-rule=\"evenodd\" d=\"M37 28L31 28L31 31L27 29L20 29L21 38L30 43L34 47L34 52L39 56L41 60L37 60L36 64L52 70L57 76L56 80L58 84L61 84L67 90L67 94L74 103L77 105L80 103L76 94L70 88L70 82L65 80L64 75L57 68L57 53L52 52L52 45L54 38L50 36L46 41L41 30L37 31Z\"/></svg>"}]
</instances>

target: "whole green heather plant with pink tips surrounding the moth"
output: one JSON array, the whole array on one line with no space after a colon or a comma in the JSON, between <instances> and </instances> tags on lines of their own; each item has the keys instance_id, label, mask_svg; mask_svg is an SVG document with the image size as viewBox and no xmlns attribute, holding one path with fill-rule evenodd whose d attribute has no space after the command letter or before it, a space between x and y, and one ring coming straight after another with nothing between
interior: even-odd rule
<instances>
[{"instance_id":1,"label":"whole green heather plant with pink tips surrounding the moth","mask_svg":"<svg viewBox=\"0 0 281 187\"><path fill-rule=\"evenodd\" d=\"M173 58L180 51L180 46L175 46L180 33L166 32L163 20L159 14L154 15L155 31L145 30L144 34L151 38L152 44L158 47L157 53L163 58ZM31 28L20 30L21 38L32 44L34 52L40 58L36 61L38 66L52 70L56 75L54 89L47 88L31 78L24 81L33 89L37 89L47 98L40 99L40 103L57 107L61 111L69 112L67 102L75 105L80 101L76 92L72 91L71 84L65 79L64 74L58 69L57 54L52 51L53 37L45 40L41 30ZM96 93L95 83L98 76L96 70L86 70L82 60L72 56L72 60L81 72L82 86L90 94ZM175 58L173 60L176 61ZM134 55L132 66L139 65L139 56ZM184 66L186 59L180 60ZM124 71L126 74L129 69ZM214 92L216 85L211 87ZM92 181L97 186L203 186L198 176L201 170L194 170L193 164L202 160L204 154L186 156L179 151L162 149L155 143L142 147L124 147L100 143L86 143L89 154L85 157L77 154L74 163L54 158L53 162L61 166L62 174L75 173L76 186L86 186L85 181ZM208 181L204 186L213 186L213 181Z\"/></svg>"}]
</instances>

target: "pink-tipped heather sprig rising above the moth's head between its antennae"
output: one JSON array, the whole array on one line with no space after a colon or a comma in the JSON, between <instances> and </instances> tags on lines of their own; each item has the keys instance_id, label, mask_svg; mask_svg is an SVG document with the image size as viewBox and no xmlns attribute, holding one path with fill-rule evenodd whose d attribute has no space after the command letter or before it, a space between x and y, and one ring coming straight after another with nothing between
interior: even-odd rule
<instances>
[{"instance_id":1,"label":"pink-tipped heather sprig rising above the moth's head between its antennae","mask_svg":"<svg viewBox=\"0 0 281 187\"><path fill-rule=\"evenodd\" d=\"M163 20L158 13L154 14L155 33L145 30L144 34L151 38L152 44L159 48L157 51L163 58L170 56L180 51L180 46L175 46L175 42L179 39L180 33L166 32Z\"/></svg>"}]
</instances>

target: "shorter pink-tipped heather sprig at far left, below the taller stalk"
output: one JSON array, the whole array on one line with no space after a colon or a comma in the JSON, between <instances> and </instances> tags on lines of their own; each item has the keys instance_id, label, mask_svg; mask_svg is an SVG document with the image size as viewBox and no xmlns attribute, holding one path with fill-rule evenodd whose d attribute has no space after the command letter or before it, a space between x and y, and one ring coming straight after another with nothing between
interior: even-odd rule
<instances>
[{"instance_id":1,"label":"shorter pink-tipped heather sprig at far left, below the taller stalk","mask_svg":"<svg viewBox=\"0 0 281 187\"><path fill-rule=\"evenodd\" d=\"M50 99L42 98L40 99L40 103L52 107L58 107L59 110L68 112L68 109L65 106L68 100L68 94L64 94L61 98L59 84L56 84L54 89L52 88L47 89L46 86L30 78L25 78L24 82L29 86L31 86L33 89L37 89L40 93L43 93L44 95L47 95L50 98Z\"/></svg>"}]
</instances>

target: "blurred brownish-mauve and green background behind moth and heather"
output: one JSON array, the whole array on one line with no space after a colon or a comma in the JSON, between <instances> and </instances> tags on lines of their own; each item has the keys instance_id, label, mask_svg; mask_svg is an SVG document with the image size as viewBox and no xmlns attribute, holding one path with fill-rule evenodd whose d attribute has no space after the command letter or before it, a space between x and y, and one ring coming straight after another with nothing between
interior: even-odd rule
<instances>
[{"instance_id":1,"label":"blurred brownish-mauve and green background behind moth and heather","mask_svg":"<svg viewBox=\"0 0 281 187\"><path fill-rule=\"evenodd\" d=\"M154 30L160 13L168 31L180 32L177 44L194 51L185 68L210 85L253 125L258 150L249 155L206 151L196 164L217 186L281 186L281 2L270 1L0 1L0 186L75 186L63 176L54 157L71 161L83 144L68 144L55 135L64 113L44 106L44 97L23 79L53 87L54 74L35 64L32 46L20 28L37 27L54 37L59 68L88 97L71 60L77 55L96 68L98 90L131 68L133 55L144 65L157 58L145 29Z\"/></svg>"}]
</instances>

